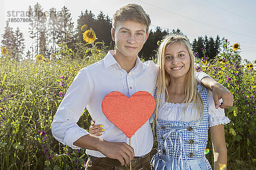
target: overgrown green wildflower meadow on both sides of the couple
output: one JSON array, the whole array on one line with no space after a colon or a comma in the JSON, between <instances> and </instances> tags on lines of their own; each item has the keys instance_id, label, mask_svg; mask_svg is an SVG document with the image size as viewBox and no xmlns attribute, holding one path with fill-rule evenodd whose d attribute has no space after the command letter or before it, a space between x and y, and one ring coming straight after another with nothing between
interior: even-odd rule
<instances>
[{"instance_id":1,"label":"overgrown green wildflower meadow on both sides of the couple","mask_svg":"<svg viewBox=\"0 0 256 170\"><path fill-rule=\"evenodd\" d=\"M83 170L87 161L85 150L73 150L54 139L51 122L78 71L103 59L108 48L102 42L93 41L81 45L82 50L73 51L60 44L58 53L51 57L39 54L34 59L21 60L13 59L5 47L1 49L0 170ZM76 57L81 51L84 57ZM209 74L234 96L233 107L225 109L231 120L224 127L229 170L256 169L256 71L253 67L256 61L241 61L239 49L231 47L228 40L224 40L223 50L215 59L205 56L196 60L196 71ZM85 109L78 125L88 129L90 119ZM209 136L206 153L213 164L210 141Z\"/></svg>"}]
</instances>

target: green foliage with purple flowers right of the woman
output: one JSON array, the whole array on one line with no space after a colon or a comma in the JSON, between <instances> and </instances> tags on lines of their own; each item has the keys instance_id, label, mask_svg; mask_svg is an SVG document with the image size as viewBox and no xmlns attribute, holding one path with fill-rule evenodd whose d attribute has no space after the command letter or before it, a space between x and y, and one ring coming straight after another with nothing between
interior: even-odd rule
<instances>
[{"instance_id":1,"label":"green foliage with purple flowers right of the woman","mask_svg":"<svg viewBox=\"0 0 256 170\"><path fill-rule=\"evenodd\" d=\"M228 40L223 40L223 47L215 59L205 56L197 60L196 70L209 74L233 94L233 107L225 109L225 115L231 120L224 126L228 169L251 170L256 167L256 71L244 66L248 61L241 62L239 52L230 48ZM205 50L202 53L205 55ZM209 136L207 159L213 164L210 141Z\"/></svg>"}]
</instances>

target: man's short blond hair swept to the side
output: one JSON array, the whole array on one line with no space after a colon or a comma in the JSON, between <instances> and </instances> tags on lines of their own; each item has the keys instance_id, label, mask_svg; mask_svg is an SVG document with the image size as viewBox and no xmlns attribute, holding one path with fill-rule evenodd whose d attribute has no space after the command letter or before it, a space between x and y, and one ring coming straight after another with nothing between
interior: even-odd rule
<instances>
[{"instance_id":1,"label":"man's short blond hair swept to the side","mask_svg":"<svg viewBox=\"0 0 256 170\"><path fill-rule=\"evenodd\" d=\"M127 20L145 24L147 26L146 32L148 32L148 27L151 23L151 20L149 15L145 13L140 5L130 3L126 6L121 7L113 15L112 27L115 29L117 24Z\"/></svg>"}]
</instances>

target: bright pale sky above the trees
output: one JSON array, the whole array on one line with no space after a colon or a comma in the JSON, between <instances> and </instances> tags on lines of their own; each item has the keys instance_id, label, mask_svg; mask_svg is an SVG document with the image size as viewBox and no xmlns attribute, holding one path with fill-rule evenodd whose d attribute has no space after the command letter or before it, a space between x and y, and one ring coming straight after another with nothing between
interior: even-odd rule
<instances>
[{"instance_id":1,"label":"bright pale sky above the trees","mask_svg":"<svg viewBox=\"0 0 256 170\"><path fill-rule=\"evenodd\" d=\"M91 10L93 14L103 11L110 17L115 11L128 3L141 5L151 17L150 29L160 26L169 30L180 28L187 34L190 41L198 36L207 35L214 39L217 34L230 40L230 45L239 42L241 57L254 61L256 59L256 1L255 0L4 0L0 6L0 34L4 33L8 11L28 11L38 2L43 11L56 8L60 11L65 5L75 23L81 11ZM31 46L28 34L29 23L10 23L16 29L18 26L24 34L26 49ZM0 43L2 36L0 37Z\"/></svg>"}]
</instances>

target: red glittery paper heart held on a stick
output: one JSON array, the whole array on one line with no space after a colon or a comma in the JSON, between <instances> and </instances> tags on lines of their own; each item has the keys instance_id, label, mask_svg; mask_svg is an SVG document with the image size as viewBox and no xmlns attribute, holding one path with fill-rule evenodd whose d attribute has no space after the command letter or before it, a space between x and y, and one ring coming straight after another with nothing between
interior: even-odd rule
<instances>
[{"instance_id":1,"label":"red glittery paper heart held on a stick","mask_svg":"<svg viewBox=\"0 0 256 170\"><path fill-rule=\"evenodd\" d=\"M129 98L119 91L112 91L102 100L105 116L128 138L147 122L154 108L154 97L146 91L138 91Z\"/></svg>"}]
</instances>

